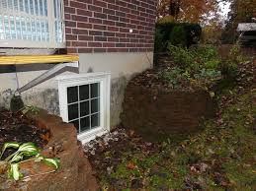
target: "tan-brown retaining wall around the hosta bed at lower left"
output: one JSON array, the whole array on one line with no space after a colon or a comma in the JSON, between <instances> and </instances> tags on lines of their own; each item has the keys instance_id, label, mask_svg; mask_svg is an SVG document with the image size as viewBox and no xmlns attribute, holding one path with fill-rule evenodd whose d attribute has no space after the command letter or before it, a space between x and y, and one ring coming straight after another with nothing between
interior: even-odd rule
<instances>
[{"instance_id":1,"label":"tan-brown retaining wall around the hosta bed at lower left","mask_svg":"<svg viewBox=\"0 0 256 191\"><path fill-rule=\"evenodd\" d=\"M89 160L84 156L76 129L62 122L60 117L42 112L33 116L37 125L50 130L50 140L43 148L43 156L60 159L60 168L53 173L36 175L49 171L50 167L40 162L25 162L21 171L31 177L27 181L6 183L7 191L94 191L98 190ZM0 189L1 190L1 189Z\"/></svg>"}]
</instances>

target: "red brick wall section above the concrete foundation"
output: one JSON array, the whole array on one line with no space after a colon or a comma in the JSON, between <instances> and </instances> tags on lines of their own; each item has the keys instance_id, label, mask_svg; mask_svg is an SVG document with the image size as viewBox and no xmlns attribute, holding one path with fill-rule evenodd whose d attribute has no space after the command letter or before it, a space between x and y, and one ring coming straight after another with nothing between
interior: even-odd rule
<instances>
[{"instance_id":1,"label":"red brick wall section above the concrete foundation","mask_svg":"<svg viewBox=\"0 0 256 191\"><path fill-rule=\"evenodd\" d=\"M152 51L156 2L64 0L67 52Z\"/></svg>"}]
</instances>

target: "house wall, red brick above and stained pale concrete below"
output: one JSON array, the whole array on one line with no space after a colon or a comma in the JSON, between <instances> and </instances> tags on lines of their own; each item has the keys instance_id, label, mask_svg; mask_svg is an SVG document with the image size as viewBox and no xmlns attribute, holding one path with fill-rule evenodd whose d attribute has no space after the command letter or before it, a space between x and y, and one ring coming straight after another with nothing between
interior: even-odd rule
<instances>
[{"instance_id":1,"label":"house wall, red brick above and stained pale concrete below","mask_svg":"<svg viewBox=\"0 0 256 191\"><path fill-rule=\"evenodd\" d=\"M120 122L128 80L136 73L152 67L156 2L64 0L64 52L78 54L80 60L79 70L67 69L62 75L111 72L112 127ZM18 87L24 86L51 67L37 64L0 69L0 107L8 107ZM22 96L26 104L38 105L50 113L59 114L57 82L54 78L26 91Z\"/></svg>"}]
</instances>

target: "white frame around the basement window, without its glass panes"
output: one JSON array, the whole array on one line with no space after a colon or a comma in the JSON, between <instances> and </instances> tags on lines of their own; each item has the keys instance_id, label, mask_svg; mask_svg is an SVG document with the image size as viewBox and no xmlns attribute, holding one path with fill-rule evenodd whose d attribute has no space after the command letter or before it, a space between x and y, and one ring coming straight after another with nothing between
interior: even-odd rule
<instances>
[{"instance_id":1,"label":"white frame around the basement window, without its glass panes","mask_svg":"<svg viewBox=\"0 0 256 191\"><path fill-rule=\"evenodd\" d=\"M84 144L110 131L110 72L58 76L56 80L58 82L60 116L64 122L68 122L67 88L100 83L100 126L82 132L77 137Z\"/></svg>"}]
</instances>

